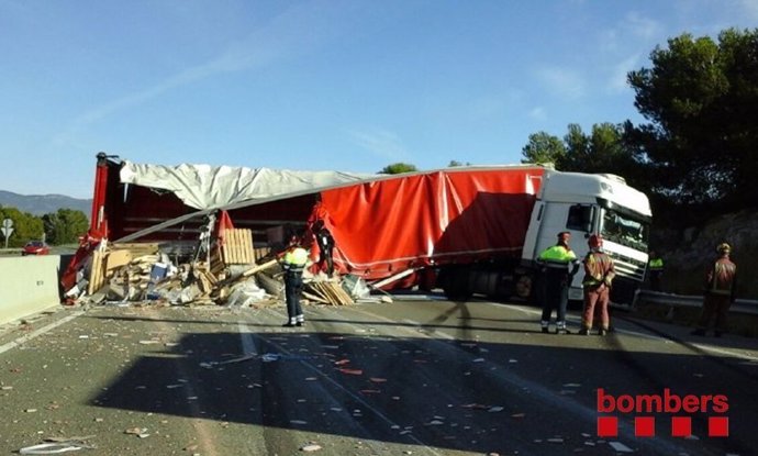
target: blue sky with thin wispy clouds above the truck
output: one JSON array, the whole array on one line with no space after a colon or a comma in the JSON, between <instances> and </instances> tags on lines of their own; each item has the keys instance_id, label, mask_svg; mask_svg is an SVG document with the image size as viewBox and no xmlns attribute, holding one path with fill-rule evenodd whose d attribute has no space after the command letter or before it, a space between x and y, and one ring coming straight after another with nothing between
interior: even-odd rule
<instances>
[{"instance_id":1,"label":"blue sky with thin wispy clouds above the truck","mask_svg":"<svg viewBox=\"0 0 758 456\"><path fill-rule=\"evenodd\" d=\"M376 173L513 164L639 123L626 73L758 0L0 0L0 189L90 198L94 155Z\"/></svg>"}]
</instances>

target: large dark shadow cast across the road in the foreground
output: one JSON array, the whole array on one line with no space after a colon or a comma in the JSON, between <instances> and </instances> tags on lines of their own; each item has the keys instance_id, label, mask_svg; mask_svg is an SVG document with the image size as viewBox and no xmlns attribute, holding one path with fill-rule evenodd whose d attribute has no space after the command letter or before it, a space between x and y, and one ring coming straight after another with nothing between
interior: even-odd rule
<instances>
[{"instance_id":1,"label":"large dark shadow cast across the road in the foreground","mask_svg":"<svg viewBox=\"0 0 758 456\"><path fill-rule=\"evenodd\" d=\"M650 394L666 387L680 394L728 396L732 436L675 441L664 427L655 440L635 438L633 416L621 416L620 438L645 454L699 454L692 451L702 447L748 454L758 443L748 424L758 401L735 383L744 377L729 382L699 376L712 365L703 357L629 357L598 349L612 338L578 348L545 347L533 337L534 344L484 344L379 334L198 333L144 356L91 402L478 453L564 454L540 447L559 436L565 454L604 454L606 446L604 453L586 446L588 435L597 438L595 389ZM670 418L654 415L660 423ZM693 433L706 434L706 418L695 416Z\"/></svg>"}]
</instances>

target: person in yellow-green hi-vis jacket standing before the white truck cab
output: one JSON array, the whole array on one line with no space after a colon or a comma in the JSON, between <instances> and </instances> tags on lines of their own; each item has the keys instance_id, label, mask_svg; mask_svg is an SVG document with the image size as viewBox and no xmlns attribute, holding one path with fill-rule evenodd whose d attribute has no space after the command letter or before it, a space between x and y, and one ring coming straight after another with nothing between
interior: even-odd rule
<instances>
[{"instance_id":1,"label":"person in yellow-green hi-vis jacket standing before the white truck cab","mask_svg":"<svg viewBox=\"0 0 758 456\"><path fill-rule=\"evenodd\" d=\"M556 334L570 334L566 327L566 307L568 305L568 289L573 275L579 269L577 255L569 247L571 233L558 233L558 243L546 248L537 258L542 267L543 285L543 316L540 326L543 333L549 332L553 309L556 309Z\"/></svg>"}]
</instances>

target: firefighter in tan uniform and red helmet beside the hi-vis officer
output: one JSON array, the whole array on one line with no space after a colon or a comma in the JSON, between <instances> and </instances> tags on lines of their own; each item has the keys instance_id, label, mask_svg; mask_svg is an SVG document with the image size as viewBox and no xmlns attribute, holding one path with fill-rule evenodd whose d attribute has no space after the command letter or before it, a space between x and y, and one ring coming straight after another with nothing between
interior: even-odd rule
<instances>
[{"instance_id":1,"label":"firefighter in tan uniform and red helmet beside the hi-vis officer","mask_svg":"<svg viewBox=\"0 0 758 456\"><path fill-rule=\"evenodd\" d=\"M616 271L611 259L603 252L603 238L598 234L587 240L590 252L584 257L584 279L582 289L584 294L584 310L581 319L579 334L588 335L592 330L595 313L600 314L599 335L607 334L611 327L611 318L607 313L607 304L611 298L611 283Z\"/></svg>"}]
</instances>

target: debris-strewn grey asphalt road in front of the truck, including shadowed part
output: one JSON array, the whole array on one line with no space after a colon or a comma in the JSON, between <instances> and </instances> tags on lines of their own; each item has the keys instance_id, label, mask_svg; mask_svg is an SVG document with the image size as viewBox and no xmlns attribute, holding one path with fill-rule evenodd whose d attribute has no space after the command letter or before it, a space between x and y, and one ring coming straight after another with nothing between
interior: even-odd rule
<instances>
[{"instance_id":1,"label":"debris-strewn grey asphalt road in front of the truck, including shadowed part","mask_svg":"<svg viewBox=\"0 0 758 456\"><path fill-rule=\"evenodd\" d=\"M305 311L306 326L296 329L281 327L283 305L107 305L7 325L0 449L49 440L64 442L47 451L79 445L66 454L81 455L758 448L755 340L695 337L620 312L605 337L543 334L538 309L434 297ZM570 321L576 330L576 312ZM598 410L600 389L606 413ZM691 397L690 409L607 410L609 398L626 408L637 396L664 394ZM705 396L721 396L727 410ZM598 435L601 416L617 419L617 436ZM635 416L655 420L653 436L640 435L650 427L640 420L635 429ZM689 419L691 435L671 436L672 416ZM711 418L722 419L711 432L727 419L728 436L709 435Z\"/></svg>"}]
</instances>

